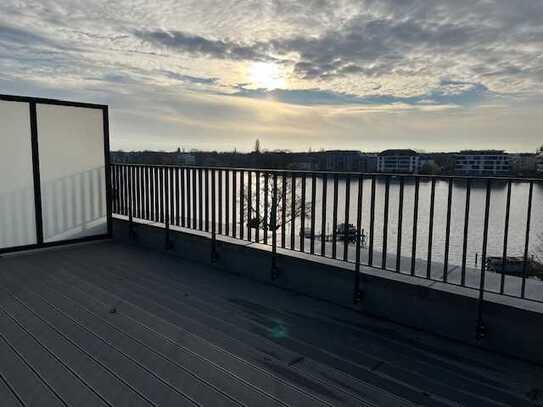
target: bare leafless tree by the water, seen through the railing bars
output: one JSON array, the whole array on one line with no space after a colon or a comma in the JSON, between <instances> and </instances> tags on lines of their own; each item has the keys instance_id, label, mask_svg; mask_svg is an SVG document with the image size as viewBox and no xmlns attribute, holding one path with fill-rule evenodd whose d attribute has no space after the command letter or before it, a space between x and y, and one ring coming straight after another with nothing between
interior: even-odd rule
<instances>
[{"instance_id":1,"label":"bare leafless tree by the water, seen through the railing bars","mask_svg":"<svg viewBox=\"0 0 543 407\"><path fill-rule=\"evenodd\" d=\"M252 229L266 231L279 231L283 226L300 218L304 212L302 205L301 188L298 187L301 180L285 179L277 176L277 190L274 193L273 174L259 172L252 178L253 193L251 197L245 196L245 205L248 210L247 226ZM259 185L257 188L256 185ZM295 197L294 207L292 197ZM284 209L284 211L283 211ZM310 218L311 202L305 203L305 218ZM283 231L284 233L284 231Z\"/></svg>"}]
</instances>

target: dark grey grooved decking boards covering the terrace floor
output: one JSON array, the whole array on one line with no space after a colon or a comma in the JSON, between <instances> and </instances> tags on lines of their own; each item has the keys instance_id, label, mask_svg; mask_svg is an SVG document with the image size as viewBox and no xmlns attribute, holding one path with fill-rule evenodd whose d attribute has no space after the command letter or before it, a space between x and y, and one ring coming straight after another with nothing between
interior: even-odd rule
<instances>
[{"instance_id":1,"label":"dark grey grooved decking boards covering the terrace floor","mask_svg":"<svg viewBox=\"0 0 543 407\"><path fill-rule=\"evenodd\" d=\"M528 363L160 252L0 258L2 406L530 406L542 389Z\"/></svg>"}]
</instances>

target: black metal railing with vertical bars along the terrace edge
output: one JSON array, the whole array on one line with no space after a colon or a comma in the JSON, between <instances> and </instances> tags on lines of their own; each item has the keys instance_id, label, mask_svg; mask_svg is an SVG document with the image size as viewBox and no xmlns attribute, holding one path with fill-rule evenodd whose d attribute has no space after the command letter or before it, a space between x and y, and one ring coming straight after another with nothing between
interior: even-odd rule
<instances>
[{"instance_id":1,"label":"black metal railing with vertical bars along the terrace edge","mask_svg":"<svg viewBox=\"0 0 543 407\"><path fill-rule=\"evenodd\" d=\"M213 259L217 235L271 245L272 279L277 249L354 263L355 302L361 266L478 290L481 303L543 301L542 183L115 164L112 204L131 230L135 218L163 225L166 247L172 227L209 232Z\"/></svg>"}]
</instances>

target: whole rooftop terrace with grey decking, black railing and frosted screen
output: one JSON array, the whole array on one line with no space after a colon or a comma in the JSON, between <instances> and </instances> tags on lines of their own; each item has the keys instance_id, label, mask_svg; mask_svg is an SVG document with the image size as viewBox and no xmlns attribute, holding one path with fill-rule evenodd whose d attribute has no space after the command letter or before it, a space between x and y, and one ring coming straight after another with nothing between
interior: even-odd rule
<instances>
[{"instance_id":1,"label":"whole rooftop terrace with grey decking, black railing and frosted screen","mask_svg":"<svg viewBox=\"0 0 543 407\"><path fill-rule=\"evenodd\" d=\"M543 405L541 180L111 165L107 106L0 122L2 407Z\"/></svg>"}]
</instances>

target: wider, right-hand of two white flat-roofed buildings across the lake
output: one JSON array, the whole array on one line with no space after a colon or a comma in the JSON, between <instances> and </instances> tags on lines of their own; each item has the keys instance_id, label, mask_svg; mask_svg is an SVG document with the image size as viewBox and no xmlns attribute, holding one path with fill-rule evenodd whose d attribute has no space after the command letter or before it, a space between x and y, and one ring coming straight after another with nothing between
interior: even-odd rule
<instances>
[{"instance_id":1,"label":"wider, right-hand of two white flat-roofed buildings across the lake","mask_svg":"<svg viewBox=\"0 0 543 407\"><path fill-rule=\"evenodd\" d=\"M511 157L502 150L466 150L456 156L458 175L506 176L512 170Z\"/></svg>"}]
</instances>

